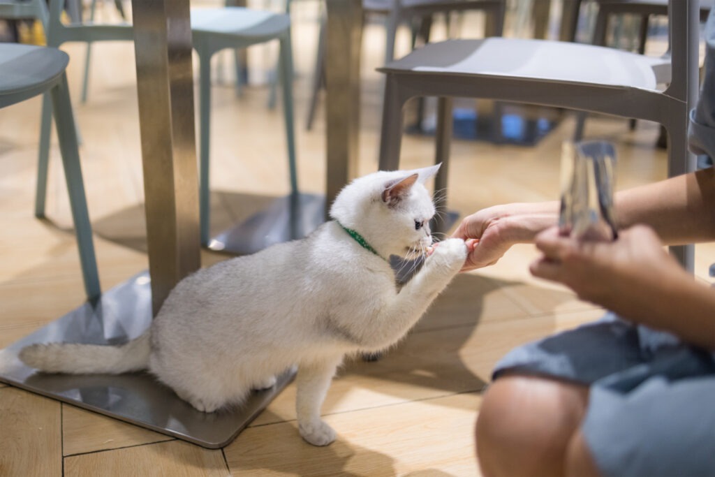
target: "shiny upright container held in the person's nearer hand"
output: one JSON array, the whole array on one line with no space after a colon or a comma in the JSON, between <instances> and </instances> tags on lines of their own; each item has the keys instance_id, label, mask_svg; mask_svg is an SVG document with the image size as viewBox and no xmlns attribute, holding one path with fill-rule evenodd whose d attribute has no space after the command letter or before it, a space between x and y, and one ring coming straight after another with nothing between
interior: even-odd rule
<instances>
[{"instance_id":1,"label":"shiny upright container held in the person's nearer hand","mask_svg":"<svg viewBox=\"0 0 715 477\"><path fill-rule=\"evenodd\" d=\"M564 142L561 151L562 235L578 240L615 240L613 169L616 150L606 141Z\"/></svg>"}]
</instances>

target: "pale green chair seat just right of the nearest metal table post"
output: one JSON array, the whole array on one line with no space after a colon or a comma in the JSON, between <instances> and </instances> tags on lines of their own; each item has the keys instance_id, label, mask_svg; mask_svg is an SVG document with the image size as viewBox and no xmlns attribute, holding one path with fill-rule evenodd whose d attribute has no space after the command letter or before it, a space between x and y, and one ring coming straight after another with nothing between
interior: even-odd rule
<instances>
[{"instance_id":1,"label":"pale green chair seat just right of the nearest metal table post","mask_svg":"<svg viewBox=\"0 0 715 477\"><path fill-rule=\"evenodd\" d=\"M276 38L290 28L290 17L270 11L227 6L218 9L192 9L192 35L235 37L264 41Z\"/></svg>"}]
</instances>

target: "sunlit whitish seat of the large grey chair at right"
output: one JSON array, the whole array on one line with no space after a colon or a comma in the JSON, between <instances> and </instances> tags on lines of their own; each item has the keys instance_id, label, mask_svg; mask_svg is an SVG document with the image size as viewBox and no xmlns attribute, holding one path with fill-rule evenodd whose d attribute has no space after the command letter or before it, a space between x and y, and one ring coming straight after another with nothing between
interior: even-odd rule
<instances>
[{"instance_id":1,"label":"sunlit whitish seat of the large grey chair at right","mask_svg":"<svg viewBox=\"0 0 715 477\"><path fill-rule=\"evenodd\" d=\"M659 69L669 67L669 59L603 46L499 37L427 44L378 71L438 72L442 77L516 77L654 91L662 77Z\"/></svg>"}]
</instances>

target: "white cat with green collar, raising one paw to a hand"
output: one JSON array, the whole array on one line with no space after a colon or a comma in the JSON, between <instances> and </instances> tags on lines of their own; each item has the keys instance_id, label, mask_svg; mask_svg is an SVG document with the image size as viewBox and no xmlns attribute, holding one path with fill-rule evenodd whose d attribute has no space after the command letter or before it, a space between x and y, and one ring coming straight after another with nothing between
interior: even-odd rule
<instances>
[{"instance_id":1,"label":"white cat with green collar, raising one paw to a hand","mask_svg":"<svg viewBox=\"0 0 715 477\"><path fill-rule=\"evenodd\" d=\"M424 254L431 245L435 207L423 182L438 167L353 181L335 199L332 220L305 239L184 278L136 340L31 345L19 356L50 373L148 369L209 413L272 386L275 375L297 365L300 435L330 444L335 431L320 419L320 407L344 355L397 343L467 256L462 240L445 240L400 289L386 260Z\"/></svg>"}]
</instances>

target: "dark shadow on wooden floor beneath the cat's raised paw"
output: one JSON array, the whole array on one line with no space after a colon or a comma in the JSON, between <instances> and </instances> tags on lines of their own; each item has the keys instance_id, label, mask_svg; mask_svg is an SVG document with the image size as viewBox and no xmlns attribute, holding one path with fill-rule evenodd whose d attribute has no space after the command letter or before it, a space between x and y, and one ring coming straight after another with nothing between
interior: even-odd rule
<instances>
[{"instance_id":1,"label":"dark shadow on wooden floor beneath the cat's raised paw","mask_svg":"<svg viewBox=\"0 0 715 477\"><path fill-rule=\"evenodd\" d=\"M476 273L458 275L395 348L374 362L360 358L347 361L338 379L358 376L378 380L380 393L405 399L414 398L415 387L427 388L428 391L418 391L425 396L430 395L429 390L448 393L484 390L493 365L511 347L490 343L492 331L483 337L473 334L480 323L498 323L526 315L521 305L501 292L518 286L523 286L523 282ZM549 292L554 303L573 300L568 292ZM493 304L485 307L491 297L502 304L498 313L493 311Z\"/></svg>"}]
</instances>

